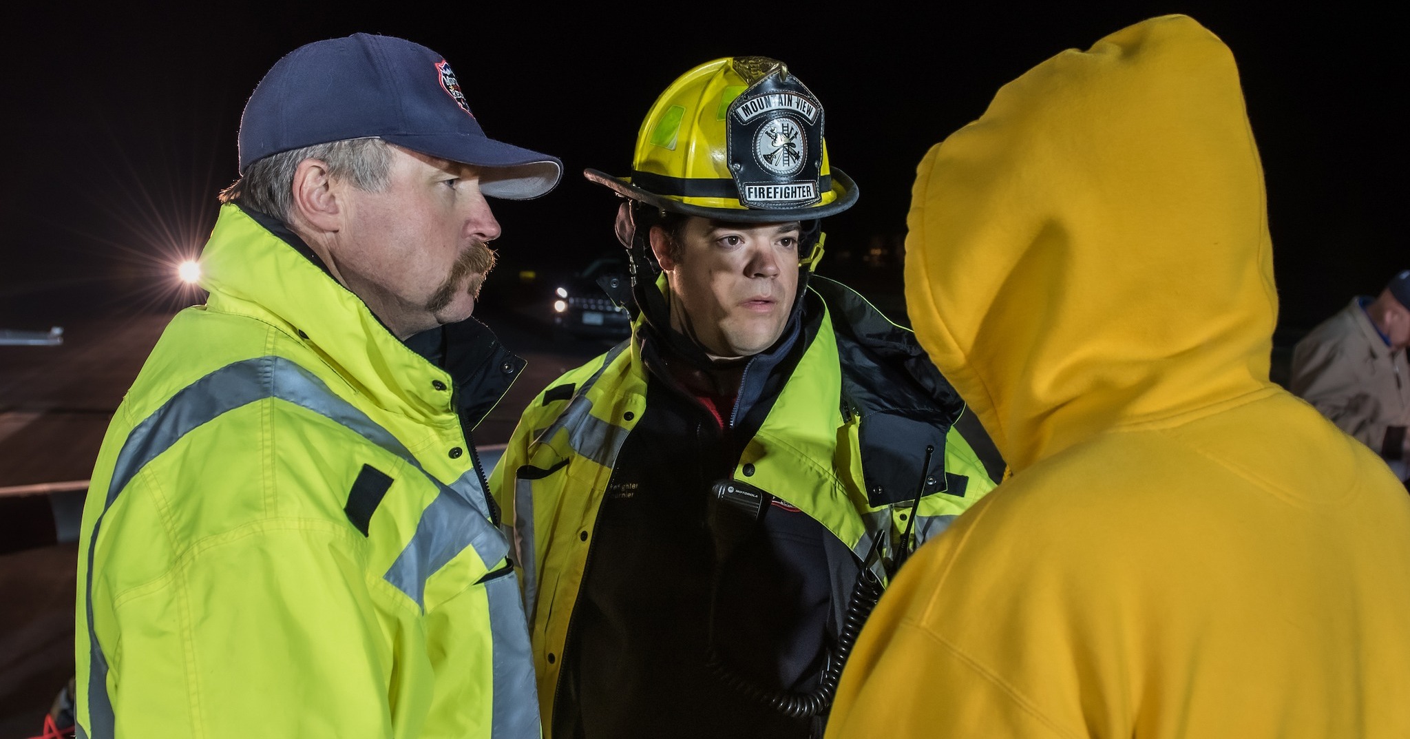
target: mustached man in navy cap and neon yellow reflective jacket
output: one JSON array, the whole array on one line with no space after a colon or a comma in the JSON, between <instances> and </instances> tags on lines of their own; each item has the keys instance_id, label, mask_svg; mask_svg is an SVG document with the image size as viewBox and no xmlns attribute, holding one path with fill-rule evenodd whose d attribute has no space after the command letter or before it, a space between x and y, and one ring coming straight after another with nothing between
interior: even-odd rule
<instances>
[{"instance_id":1,"label":"mustached man in navy cap and neon yellow reflective jacket","mask_svg":"<svg viewBox=\"0 0 1410 739\"><path fill-rule=\"evenodd\" d=\"M355 34L255 87L243 178L104 440L79 735L539 736L471 429L523 362L471 320L486 197L553 189L431 49Z\"/></svg>"}]
</instances>

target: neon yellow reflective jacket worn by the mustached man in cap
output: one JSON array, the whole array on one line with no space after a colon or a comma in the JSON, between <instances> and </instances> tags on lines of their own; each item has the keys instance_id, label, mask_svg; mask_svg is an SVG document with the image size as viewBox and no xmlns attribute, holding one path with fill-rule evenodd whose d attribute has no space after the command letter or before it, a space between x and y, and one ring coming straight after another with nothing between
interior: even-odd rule
<instances>
[{"instance_id":1,"label":"neon yellow reflective jacket worn by the mustached man in cap","mask_svg":"<svg viewBox=\"0 0 1410 739\"><path fill-rule=\"evenodd\" d=\"M202 268L207 305L168 326L93 471L79 735L539 736L509 543L457 413L522 362L464 357L498 395L460 398L477 378L235 206Z\"/></svg>"}]
</instances>

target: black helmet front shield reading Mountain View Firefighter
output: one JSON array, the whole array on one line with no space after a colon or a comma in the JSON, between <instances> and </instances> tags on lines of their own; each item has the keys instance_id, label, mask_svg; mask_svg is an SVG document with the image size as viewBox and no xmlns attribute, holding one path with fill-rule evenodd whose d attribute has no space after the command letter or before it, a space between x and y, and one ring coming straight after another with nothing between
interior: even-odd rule
<instances>
[{"instance_id":1,"label":"black helmet front shield reading Mountain View Firefighter","mask_svg":"<svg viewBox=\"0 0 1410 739\"><path fill-rule=\"evenodd\" d=\"M729 169L740 203L790 209L822 199L822 106L785 66L750 85L726 116Z\"/></svg>"}]
</instances>

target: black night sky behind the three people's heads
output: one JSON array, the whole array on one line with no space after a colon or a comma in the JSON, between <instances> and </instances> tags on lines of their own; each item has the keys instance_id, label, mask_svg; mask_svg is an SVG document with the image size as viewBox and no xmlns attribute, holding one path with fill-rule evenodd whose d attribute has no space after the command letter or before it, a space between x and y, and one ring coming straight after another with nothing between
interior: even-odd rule
<instances>
[{"instance_id":1,"label":"black night sky behind the three people's heads","mask_svg":"<svg viewBox=\"0 0 1410 739\"><path fill-rule=\"evenodd\" d=\"M0 327L157 300L133 285L165 281L161 255L195 252L209 233L214 195L235 176L240 111L262 73L300 44L355 31L439 51L486 133L564 159L564 182L548 196L496 202L498 245L506 265L577 265L615 247L613 197L580 172L623 172L646 109L695 63L776 56L821 97L832 162L862 188L859 204L828 221L832 251L904 233L915 165L1003 83L1131 23L1187 13L1239 62L1268 178L1283 327L1306 329L1410 267L1394 217L1406 195L1403 126L1390 113L1406 89L1404 42L1397 24L1352 3L916 3L929 8L916 13L862 1L811 20L828 6L486 6L7 11ZM722 17L733 8L743 10Z\"/></svg>"}]
</instances>

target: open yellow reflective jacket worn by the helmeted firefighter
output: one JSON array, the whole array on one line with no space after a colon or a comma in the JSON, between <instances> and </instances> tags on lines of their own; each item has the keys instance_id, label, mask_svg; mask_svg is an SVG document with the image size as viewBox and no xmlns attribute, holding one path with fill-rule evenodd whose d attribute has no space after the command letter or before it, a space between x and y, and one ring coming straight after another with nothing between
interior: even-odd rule
<instances>
[{"instance_id":1,"label":"open yellow reflective jacket worn by the helmeted firefighter","mask_svg":"<svg viewBox=\"0 0 1410 739\"><path fill-rule=\"evenodd\" d=\"M921 454L897 448L898 437L921 448L926 439L935 441L936 450L943 446L943 472L936 454L926 494L915 509L912 533L922 542L993 489L998 474L986 471L969 441L949 425L953 416L936 426L928 426L929 419L902 419L918 409L888 395L900 393L891 385L895 378L883 377L878 365L852 365L860 361L857 343L870 341L873 350L890 344L890 371L901 370L897 353L914 351L904 358L918 360L933 372L909 331L885 320L850 289L816 276L812 281L809 289L826 299L826 314L768 416L744 446L732 480L801 509L856 554L856 561L839 563L849 571L835 578L846 584L847 592L835 592L833 602L846 604L857 563L878 539L883 557L891 557L912 512L922 460ZM646 412L649 379L639 337L640 326L632 340L550 384L525 410L489 480L505 523L513 526L525 573L546 733L595 518L618 453ZM949 389L938 372L932 377ZM859 381L869 386L859 388ZM960 408L956 399L955 409ZM869 436L874 439L869 441ZM888 464L873 461L871 451L881 453L874 447L885 447ZM869 461L873 470L864 470ZM873 570L885 577L880 564Z\"/></svg>"}]
</instances>

